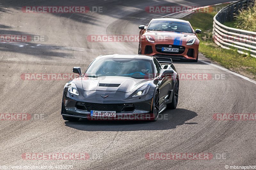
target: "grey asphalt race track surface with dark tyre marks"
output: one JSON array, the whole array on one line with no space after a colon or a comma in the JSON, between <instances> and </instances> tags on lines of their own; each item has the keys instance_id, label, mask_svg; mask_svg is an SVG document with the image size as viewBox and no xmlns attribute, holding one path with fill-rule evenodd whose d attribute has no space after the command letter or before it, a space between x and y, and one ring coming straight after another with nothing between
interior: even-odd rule
<instances>
[{"instance_id":1,"label":"grey asphalt race track surface with dark tyre marks","mask_svg":"<svg viewBox=\"0 0 256 170\"><path fill-rule=\"evenodd\" d=\"M225 169L255 165L255 121L215 120L215 113L256 113L256 85L199 61L176 62L180 74L214 80L180 80L176 110L162 120L65 122L61 98L67 80L23 80L26 73L85 71L108 53L138 52L138 42L89 42L88 35L138 35L138 25L165 14L150 5L204 6L216 1L0 1L0 34L45 35L45 42L0 43L0 113L43 115L0 121L1 166L73 165L73 169ZM23 13L22 6L102 6L102 13ZM202 55L199 60L206 60ZM215 76L224 75L218 80ZM148 160L147 153L211 153L203 160ZM88 153L87 160L28 160L24 153ZM96 155L95 158L92 155ZM218 155L222 155L221 157Z\"/></svg>"}]
</instances>

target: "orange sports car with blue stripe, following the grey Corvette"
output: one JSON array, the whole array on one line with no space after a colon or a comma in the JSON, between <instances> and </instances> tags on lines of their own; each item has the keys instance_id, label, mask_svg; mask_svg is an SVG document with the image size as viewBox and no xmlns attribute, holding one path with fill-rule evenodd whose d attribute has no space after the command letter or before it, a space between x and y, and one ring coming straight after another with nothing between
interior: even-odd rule
<instances>
[{"instance_id":1,"label":"orange sports car with blue stripe, following the grey Corvette","mask_svg":"<svg viewBox=\"0 0 256 170\"><path fill-rule=\"evenodd\" d=\"M200 29L193 30L188 21L173 18L152 19L140 25L139 54L173 60L197 62ZM170 59L169 59L170 60Z\"/></svg>"}]
</instances>

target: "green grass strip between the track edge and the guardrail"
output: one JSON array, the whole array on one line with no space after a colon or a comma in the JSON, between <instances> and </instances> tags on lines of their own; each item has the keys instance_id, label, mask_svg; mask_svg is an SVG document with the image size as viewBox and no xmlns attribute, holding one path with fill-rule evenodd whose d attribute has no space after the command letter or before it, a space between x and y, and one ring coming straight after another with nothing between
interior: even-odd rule
<instances>
[{"instance_id":1,"label":"green grass strip between the track edge and the guardrail","mask_svg":"<svg viewBox=\"0 0 256 170\"><path fill-rule=\"evenodd\" d=\"M243 72L256 79L256 58L238 53L235 49L227 50L217 46L212 40L212 22L214 13L194 13L181 18L188 20L194 29L201 29L202 34L198 34L200 39L199 51L205 57L220 63L228 69Z\"/></svg>"}]
</instances>

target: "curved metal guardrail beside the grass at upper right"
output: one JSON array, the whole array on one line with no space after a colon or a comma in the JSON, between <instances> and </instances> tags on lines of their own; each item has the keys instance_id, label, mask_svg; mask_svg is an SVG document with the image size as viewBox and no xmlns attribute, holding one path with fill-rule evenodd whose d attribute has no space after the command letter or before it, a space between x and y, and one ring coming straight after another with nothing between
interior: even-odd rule
<instances>
[{"instance_id":1,"label":"curved metal guardrail beside the grass at upper right","mask_svg":"<svg viewBox=\"0 0 256 170\"><path fill-rule=\"evenodd\" d=\"M223 25L224 22L232 21L239 10L254 4L255 0L237 1L224 7L213 17L212 38L218 46L226 49L236 48L239 53L256 57L256 32Z\"/></svg>"}]
</instances>

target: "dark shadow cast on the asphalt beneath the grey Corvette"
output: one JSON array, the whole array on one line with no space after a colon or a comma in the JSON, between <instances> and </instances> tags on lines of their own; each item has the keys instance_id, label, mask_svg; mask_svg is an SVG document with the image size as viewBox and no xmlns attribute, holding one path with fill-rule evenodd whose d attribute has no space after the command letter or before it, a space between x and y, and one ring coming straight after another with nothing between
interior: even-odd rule
<instances>
[{"instance_id":1,"label":"dark shadow cast on the asphalt beneath the grey Corvette","mask_svg":"<svg viewBox=\"0 0 256 170\"><path fill-rule=\"evenodd\" d=\"M166 114L166 115L165 115ZM164 119L167 117L167 119ZM68 127L80 131L151 131L174 129L178 125L197 124L185 123L196 117L196 112L186 109L165 110L156 122L148 121L89 121L80 119L78 122L66 121Z\"/></svg>"}]
</instances>

